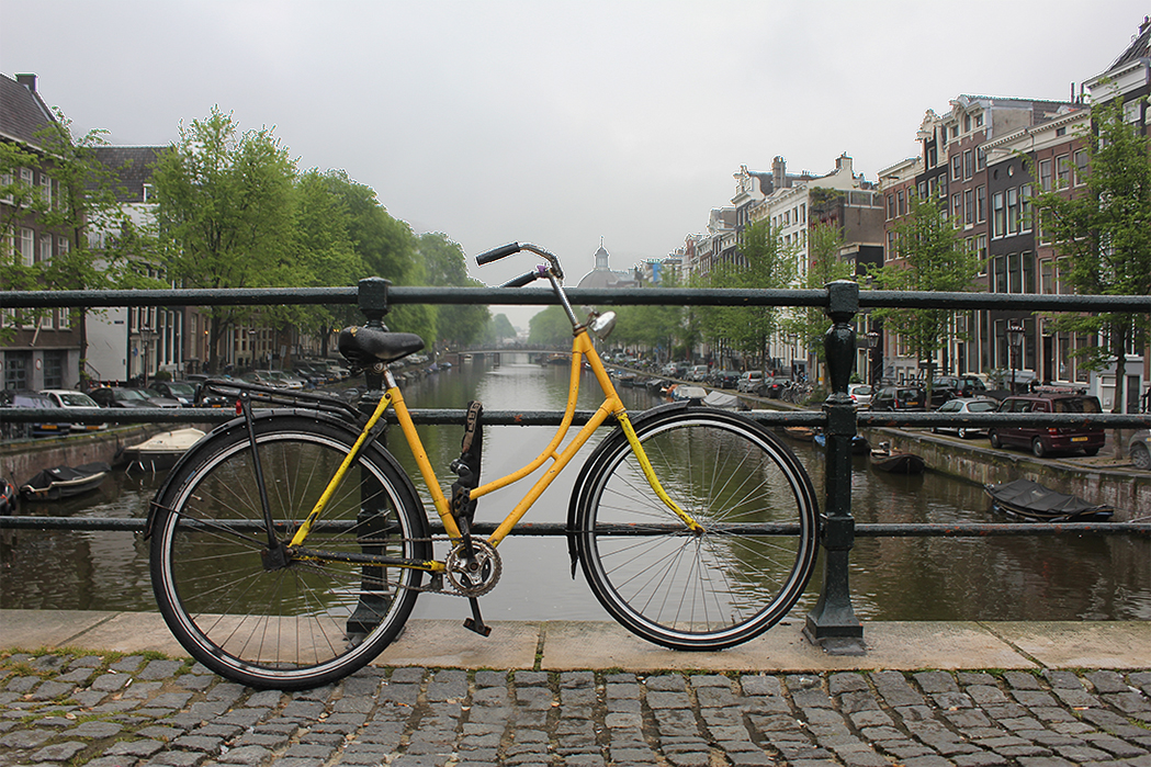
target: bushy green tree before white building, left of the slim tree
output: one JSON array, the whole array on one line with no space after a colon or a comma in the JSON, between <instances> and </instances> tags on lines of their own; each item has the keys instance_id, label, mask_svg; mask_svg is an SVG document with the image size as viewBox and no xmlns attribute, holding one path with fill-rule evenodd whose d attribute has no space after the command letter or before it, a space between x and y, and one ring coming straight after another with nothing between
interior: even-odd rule
<instances>
[{"instance_id":1,"label":"bushy green tree before white building, left of the slim tree","mask_svg":"<svg viewBox=\"0 0 1151 767\"><path fill-rule=\"evenodd\" d=\"M759 221L746 228L739 238L734 261L712 267L710 284L715 288L778 289L795 279L794 250L783 244L778 228ZM762 365L768 345L782 327L782 314L775 306L733 306L696 310L702 314L703 335L712 342L753 356Z\"/></svg>"}]
</instances>

